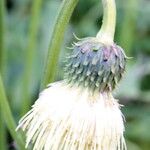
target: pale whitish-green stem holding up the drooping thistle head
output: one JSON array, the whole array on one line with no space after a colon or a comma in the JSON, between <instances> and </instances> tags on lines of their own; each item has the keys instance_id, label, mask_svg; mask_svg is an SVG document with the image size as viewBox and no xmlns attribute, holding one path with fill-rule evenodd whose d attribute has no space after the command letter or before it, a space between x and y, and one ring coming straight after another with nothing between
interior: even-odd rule
<instances>
[{"instance_id":1,"label":"pale whitish-green stem holding up the drooping thistle head","mask_svg":"<svg viewBox=\"0 0 150 150\"><path fill-rule=\"evenodd\" d=\"M116 3L115 0L102 0L103 2L103 23L97 38L102 43L112 44L114 41L116 27Z\"/></svg>"}]
</instances>

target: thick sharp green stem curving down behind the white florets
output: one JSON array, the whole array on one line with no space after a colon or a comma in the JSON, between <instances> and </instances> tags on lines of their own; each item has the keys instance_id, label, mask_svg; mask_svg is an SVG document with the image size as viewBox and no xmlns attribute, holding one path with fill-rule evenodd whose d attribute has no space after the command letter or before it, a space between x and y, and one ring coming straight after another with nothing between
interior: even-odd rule
<instances>
[{"instance_id":1,"label":"thick sharp green stem curving down behind the white florets","mask_svg":"<svg viewBox=\"0 0 150 150\"><path fill-rule=\"evenodd\" d=\"M45 88L48 83L54 80L65 29L77 3L78 0L63 0L62 2L50 41L44 79L41 88Z\"/></svg>"}]
</instances>

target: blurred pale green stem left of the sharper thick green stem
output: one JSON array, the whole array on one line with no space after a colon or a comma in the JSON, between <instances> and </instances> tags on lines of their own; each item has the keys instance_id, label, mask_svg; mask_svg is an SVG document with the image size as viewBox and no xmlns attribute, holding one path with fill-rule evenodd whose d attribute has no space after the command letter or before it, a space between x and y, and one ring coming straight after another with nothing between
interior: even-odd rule
<instances>
[{"instance_id":1,"label":"blurred pale green stem left of the sharper thick green stem","mask_svg":"<svg viewBox=\"0 0 150 150\"><path fill-rule=\"evenodd\" d=\"M36 42L37 42L37 33L38 33L38 25L40 18L40 10L42 6L42 0L34 0L32 5L32 13L31 13L31 23L29 26L29 41L26 49L26 62L25 62L25 70L24 70L24 79L23 79L23 102L21 115L25 114L29 108L31 103L31 83L32 83L32 73L33 73L33 64L35 62L36 56Z\"/></svg>"}]
</instances>

